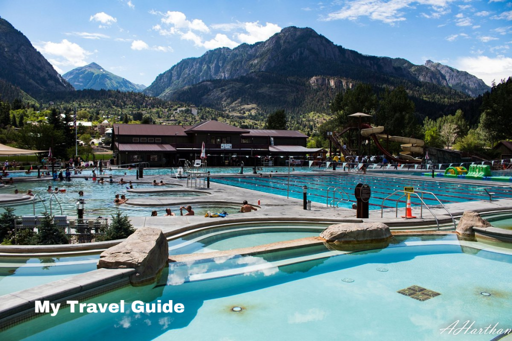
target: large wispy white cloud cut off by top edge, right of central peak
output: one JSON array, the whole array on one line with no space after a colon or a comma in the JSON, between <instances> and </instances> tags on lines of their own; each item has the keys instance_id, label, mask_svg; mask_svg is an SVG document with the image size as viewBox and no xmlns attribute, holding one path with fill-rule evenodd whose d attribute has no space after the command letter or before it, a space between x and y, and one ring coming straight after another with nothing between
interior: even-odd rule
<instances>
[{"instance_id":1,"label":"large wispy white cloud cut off by top edge, right of central peak","mask_svg":"<svg viewBox=\"0 0 512 341\"><path fill-rule=\"evenodd\" d=\"M395 25L399 21L406 20L403 11L415 8L415 4L430 6L433 13L430 15L421 13L426 18L439 18L449 13L448 4L454 0L355 0L340 9L329 13L324 20L348 19L357 20L361 16L367 16L372 20L379 20L386 24Z\"/></svg>"}]
</instances>

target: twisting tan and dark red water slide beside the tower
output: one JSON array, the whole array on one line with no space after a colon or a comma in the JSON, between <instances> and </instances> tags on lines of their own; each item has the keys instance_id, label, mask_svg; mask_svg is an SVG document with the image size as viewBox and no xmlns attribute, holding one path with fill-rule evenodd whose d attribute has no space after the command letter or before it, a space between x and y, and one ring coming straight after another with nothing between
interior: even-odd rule
<instances>
[{"instance_id":1,"label":"twisting tan and dark red water slide beside the tower","mask_svg":"<svg viewBox=\"0 0 512 341\"><path fill-rule=\"evenodd\" d=\"M413 139L413 138L403 138L400 136L388 136L386 134L382 134L381 132L384 130L384 127L378 126L373 127L369 124L363 124L362 127L365 129L361 129L361 135L365 138L371 137L375 142L377 148L388 157L388 160L404 163L404 164L417 164L421 163L421 159L415 158L412 156L412 153L423 154L423 145L425 142L423 140ZM386 140L392 142L402 143L400 147L403 151L400 152L400 158L396 158L391 155L379 142L379 139Z\"/></svg>"}]
</instances>

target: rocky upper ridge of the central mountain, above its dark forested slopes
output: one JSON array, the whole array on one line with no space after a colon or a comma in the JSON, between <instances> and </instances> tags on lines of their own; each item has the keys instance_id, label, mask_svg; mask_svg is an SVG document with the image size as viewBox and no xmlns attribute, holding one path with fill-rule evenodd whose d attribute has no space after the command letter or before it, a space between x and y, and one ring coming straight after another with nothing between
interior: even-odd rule
<instances>
[{"instance_id":1,"label":"rocky upper ridge of the central mountain, above its dark forested slopes","mask_svg":"<svg viewBox=\"0 0 512 341\"><path fill-rule=\"evenodd\" d=\"M362 82L371 80L374 73L379 73L452 87L473 97L490 89L482 80L467 73L465 81L471 78L471 82L464 86L464 82L457 81L463 72L440 65L429 68L412 64L403 58L362 55L337 46L311 28L287 27L269 39L252 45L241 44L234 49L219 48L207 51L201 57L183 59L158 75L144 93L169 98L185 86L206 80L236 79L252 72L308 78L337 76Z\"/></svg>"}]
</instances>

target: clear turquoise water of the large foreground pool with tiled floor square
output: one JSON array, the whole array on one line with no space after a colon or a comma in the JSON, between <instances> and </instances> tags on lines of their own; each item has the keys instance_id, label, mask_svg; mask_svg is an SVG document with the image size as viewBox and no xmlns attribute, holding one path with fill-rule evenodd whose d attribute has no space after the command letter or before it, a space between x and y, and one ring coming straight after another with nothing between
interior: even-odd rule
<instances>
[{"instance_id":1,"label":"clear turquoise water of the large foreground pool with tiled floor square","mask_svg":"<svg viewBox=\"0 0 512 341\"><path fill-rule=\"evenodd\" d=\"M283 258L268 260L272 257L266 255L173 264L160 285L127 287L87 301L125 300L124 313L80 314L62 308L56 316L38 317L0 336L37 341L57 335L63 340L488 341L497 335L440 331L456 321L474 321L475 328L512 324L512 256L476 246L461 247L453 237L415 237L354 254L288 255L281 263ZM231 274L223 271L235 266ZM413 285L440 295L421 302L397 292ZM173 300L185 311L135 313L130 309L134 300Z\"/></svg>"}]
</instances>

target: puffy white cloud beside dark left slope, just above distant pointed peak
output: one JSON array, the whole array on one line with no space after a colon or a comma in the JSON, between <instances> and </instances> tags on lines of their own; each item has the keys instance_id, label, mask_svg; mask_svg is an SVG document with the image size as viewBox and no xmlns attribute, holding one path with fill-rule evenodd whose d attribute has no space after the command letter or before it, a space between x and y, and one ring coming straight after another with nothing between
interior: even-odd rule
<instances>
[{"instance_id":1,"label":"puffy white cloud beside dark left slope, just above distant pointed peak","mask_svg":"<svg viewBox=\"0 0 512 341\"><path fill-rule=\"evenodd\" d=\"M63 39L61 42L47 41L41 46L36 46L37 50L45 56L55 56L57 58L48 58L55 66L83 66L87 65L86 57L91 52L82 49L78 44ZM60 69L59 69L60 70Z\"/></svg>"}]
</instances>

